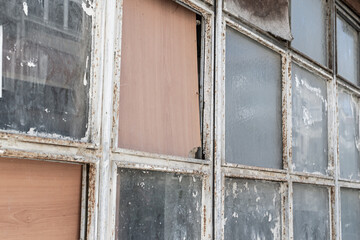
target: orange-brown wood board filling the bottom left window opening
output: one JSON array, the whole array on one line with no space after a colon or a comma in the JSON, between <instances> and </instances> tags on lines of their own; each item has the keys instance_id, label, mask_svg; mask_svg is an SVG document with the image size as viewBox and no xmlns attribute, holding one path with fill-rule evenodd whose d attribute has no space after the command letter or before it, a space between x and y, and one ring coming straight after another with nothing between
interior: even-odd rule
<instances>
[{"instance_id":1,"label":"orange-brown wood board filling the bottom left window opening","mask_svg":"<svg viewBox=\"0 0 360 240\"><path fill-rule=\"evenodd\" d=\"M0 159L0 239L78 240L81 165Z\"/></svg>"}]
</instances>

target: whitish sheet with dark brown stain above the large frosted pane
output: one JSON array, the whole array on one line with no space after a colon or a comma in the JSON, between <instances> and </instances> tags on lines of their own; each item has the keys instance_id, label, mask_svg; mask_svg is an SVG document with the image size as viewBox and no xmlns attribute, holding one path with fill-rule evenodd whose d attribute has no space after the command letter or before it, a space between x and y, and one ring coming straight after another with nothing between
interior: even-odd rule
<instances>
[{"instance_id":1,"label":"whitish sheet with dark brown stain above the large frosted pane","mask_svg":"<svg viewBox=\"0 0 360 240\"><path fill-rule=\"evenodd\" d=\"M288 0L225 0L234 16L285 40L292 40Z\"/></svg>"}]
</instances>

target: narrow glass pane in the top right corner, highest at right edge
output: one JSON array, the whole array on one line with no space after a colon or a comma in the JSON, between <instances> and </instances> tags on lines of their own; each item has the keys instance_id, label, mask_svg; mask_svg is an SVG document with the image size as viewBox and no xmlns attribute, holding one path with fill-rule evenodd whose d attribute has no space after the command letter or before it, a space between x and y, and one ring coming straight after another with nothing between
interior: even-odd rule
<instances>
[{"instance_id":1,"label":"narrow glass pane in the top right corner, highest at right edge","mask_svg":"<svg viewBox=\"0 0 360 240\"><path fill-rule=\"evenodd\" d=\"M338 74L359 84L359 32L341 17L336 18Z\"/></svg>"}]
</instances>

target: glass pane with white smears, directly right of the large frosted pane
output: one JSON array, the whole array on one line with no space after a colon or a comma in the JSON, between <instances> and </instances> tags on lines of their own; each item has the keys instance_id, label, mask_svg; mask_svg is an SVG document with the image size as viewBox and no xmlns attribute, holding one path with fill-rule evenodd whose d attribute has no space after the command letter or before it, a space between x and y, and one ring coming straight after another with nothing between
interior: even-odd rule
<instances>
[{"instance_id":1,"label":"glass pane with white smears, directly right of the large frosted pane","mask_svg":"<svg viewBox=\"0 0 360 240\"><path fill-rule=\"evenodd\" d=\"M313 73L292 66L292 156L293 169L326 173L327 86Z\"/></svg>"}]
</instances>

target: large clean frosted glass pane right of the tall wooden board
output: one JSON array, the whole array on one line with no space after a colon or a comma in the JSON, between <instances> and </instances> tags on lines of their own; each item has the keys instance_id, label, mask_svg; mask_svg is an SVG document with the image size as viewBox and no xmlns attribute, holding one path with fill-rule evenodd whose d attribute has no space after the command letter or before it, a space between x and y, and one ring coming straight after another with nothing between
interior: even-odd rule
<instances>
[{"instance_id":1,"label":"large clean frosted glass pane right of the tall wooden board","mask_svg":"<svg viewBox=\"0 0 360 240\"><path fill-rule=\"evenodd\" d=\"M282 168L280 55L227 28L226 161Z\"/></svg>"}]
</instances>

